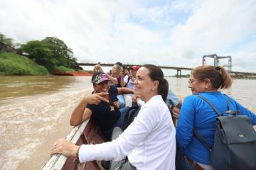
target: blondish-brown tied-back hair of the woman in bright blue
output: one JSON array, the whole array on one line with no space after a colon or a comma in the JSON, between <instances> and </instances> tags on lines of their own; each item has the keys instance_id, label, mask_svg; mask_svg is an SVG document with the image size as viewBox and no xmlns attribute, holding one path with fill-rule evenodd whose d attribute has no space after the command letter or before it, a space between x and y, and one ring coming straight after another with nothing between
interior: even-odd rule
<instances>
[{"instance_id":1,"label":"blondish-brown tied-back hair of the woman in bright blue","mask_svg":"<svg viewBox=\"0 0 256 170\"><path fill-rule=\"evenodd\" d=\"M224 67L203 65L192 69L191 74L196 79L210 79L213 89L228 89L233 79Z\"/></svg>"}]
</instances>

